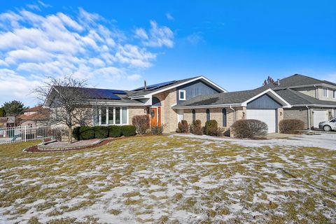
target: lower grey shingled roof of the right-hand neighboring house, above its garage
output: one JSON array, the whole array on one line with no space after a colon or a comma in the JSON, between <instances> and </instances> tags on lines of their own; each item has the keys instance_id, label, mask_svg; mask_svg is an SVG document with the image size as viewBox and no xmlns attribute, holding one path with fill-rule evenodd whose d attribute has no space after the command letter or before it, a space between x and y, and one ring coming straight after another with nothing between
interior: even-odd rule
<instances>
[{"instance_id":1,"label":"lower grey shingled roof of the right-hand neighboring house, above its garage","mask_svg":"<svg viewBox=\"0 0 336 224\"><path fill-rule=\"evenodd\" d=\"M326 101L310 97L302 92L297 92L295 90L284 89L275 90L283 99L285 99L291 105L325 105L325 106L336 106L336 102Z\"/></svg>"}]
</instances>

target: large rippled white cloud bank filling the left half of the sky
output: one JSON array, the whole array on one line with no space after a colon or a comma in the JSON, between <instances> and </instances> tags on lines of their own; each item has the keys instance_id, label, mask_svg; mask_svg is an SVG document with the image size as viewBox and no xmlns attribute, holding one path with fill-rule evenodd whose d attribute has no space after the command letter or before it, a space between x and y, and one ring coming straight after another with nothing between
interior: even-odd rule
<instances>
[{"instance_id":1,"label":"large rippled white cloud bank filling the left half of the sky","mask_svg":"<svg viewBox=\"0 0 336 224\"><path fill-rule=\"evenodd\" d=\"M129 87L125 80L137 81L153 66L157 54L149 47L174 46L172 30L155 21L148 31L136 29L134 39L131 31L83 8L77 15L45 15L26 7L0 13L0 104L12 99L30 104L27 93L46 76L72 74L97 87Z\"/></svg>"}]
</instances>

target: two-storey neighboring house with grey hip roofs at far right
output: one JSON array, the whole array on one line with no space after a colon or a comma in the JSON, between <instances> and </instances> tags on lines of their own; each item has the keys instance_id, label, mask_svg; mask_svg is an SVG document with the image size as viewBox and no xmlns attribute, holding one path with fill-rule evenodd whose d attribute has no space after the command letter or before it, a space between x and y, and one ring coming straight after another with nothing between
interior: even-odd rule
<instances>
[{"instance_id":1,"label":"two-storey neighboring house with grey hip roofs at far right","mask_svg":"<svg viewBox=\"0 0 336 224\"><path fill-rule=\"evenodd\" d=\"M295 74L266 86L290 103L284 119L297 118L306 128L336 116L336 83Z\"/></svg>"}]
</instances>

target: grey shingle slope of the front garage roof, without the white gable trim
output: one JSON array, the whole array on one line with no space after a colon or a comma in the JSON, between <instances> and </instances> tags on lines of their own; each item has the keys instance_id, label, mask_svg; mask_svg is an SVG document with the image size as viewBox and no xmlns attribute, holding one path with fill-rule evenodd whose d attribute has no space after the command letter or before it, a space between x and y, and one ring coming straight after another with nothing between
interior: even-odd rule
<instances>
[{"instance_id":1,"label":"grey shingle slope of the front garage roof, without the white gable trim","mask_svg":"<svg viewBox=\"0 0 336 224\"><path fill-rule=\"evenodd\" d=\"M211 106L221 104L241 104L248 99L264 92L262 88L237 92L222 92L207 96L200 96L179 104L179 106Z\"/></svg>"}]
</instances>

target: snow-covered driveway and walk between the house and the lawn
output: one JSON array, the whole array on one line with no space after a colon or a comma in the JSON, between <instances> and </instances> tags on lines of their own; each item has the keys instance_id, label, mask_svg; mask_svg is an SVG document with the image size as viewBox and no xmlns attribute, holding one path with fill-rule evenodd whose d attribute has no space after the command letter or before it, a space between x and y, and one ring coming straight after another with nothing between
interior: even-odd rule
<instances>
[{"instance_id":1,"label":"snow-covered driveway and walk between the house and the lawn","mask_svg":"<svg viewBox=\"0 0 336 224\"><path fill-rule=\"evenodd\" d=\"M248 140L248 139L230 139L221 137L210 137L207 135L195 134L174 134L174 136L183 136L197 139L212 139L218 141L230 141L233 144L239 144L246 147L260 146L304 146L318 147L336 150L336 133L335 134L302 134L289 139L266 139L266 140Z\"/></svg>"}]
</instances>

